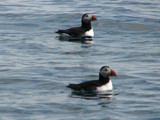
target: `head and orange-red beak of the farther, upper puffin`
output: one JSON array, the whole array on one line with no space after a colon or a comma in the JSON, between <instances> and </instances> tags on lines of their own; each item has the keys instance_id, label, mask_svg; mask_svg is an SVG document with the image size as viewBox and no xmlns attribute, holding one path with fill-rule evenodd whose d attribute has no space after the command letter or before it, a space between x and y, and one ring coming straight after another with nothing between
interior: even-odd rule
<instances>
[{"instance_id":1,"label":"head and orange-red beak of the farther, upper puffin","mask_svg":"<svg viewBox=\"0 0 160 120\"><path fill-rule=\"evenodd\" d=\"M91 15L89 13L86 13L82 16L82 22L85 22L85 23L89 23L89 22L95 21L95 20L97 20L96 16Z\"/></svg>"}]
</instances>

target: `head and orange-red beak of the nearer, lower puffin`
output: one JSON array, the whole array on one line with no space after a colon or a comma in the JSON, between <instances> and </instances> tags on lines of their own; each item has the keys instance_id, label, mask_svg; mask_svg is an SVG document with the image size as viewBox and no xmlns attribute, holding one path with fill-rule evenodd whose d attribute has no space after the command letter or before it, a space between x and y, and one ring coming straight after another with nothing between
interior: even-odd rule
<instances>
[{"instance_id":1,"label":"head and orange-red beak of the nearer, lower puffin","mask_svg":"<svg viewBox=\"0 0 160 120\"><path fill-rule=\"evenodd\" d=\"M108 67L108 66L103 66L101 69L100 69L100 72L99 72L100 75L102 75L103 77L109 77L109 76L117 76L116 72Z\"/></svg>"}]
</instances>

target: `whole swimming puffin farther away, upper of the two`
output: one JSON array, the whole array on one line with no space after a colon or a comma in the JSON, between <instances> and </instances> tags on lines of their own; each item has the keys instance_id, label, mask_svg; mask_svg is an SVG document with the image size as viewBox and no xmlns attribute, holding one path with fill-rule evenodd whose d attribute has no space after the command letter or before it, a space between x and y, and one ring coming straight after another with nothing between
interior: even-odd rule
<instances>
[{"instance_id":1,"label":"whole swimming puffin farther away, upper of the two","mask_svg":"<svg viewBox=\"0 0 160 120\"><path fill-rule=\"evenodd\" d=\"M84 14L82 16L82 25L81 27L73 27L70 29L66 29L66 30L58 30L56 31L56 33L65 33L68 34L70 36L82 36L82 37L93 37L94 36L94 31L91 25L91 21L95 21L97 20L95 15L91 15L89 13Z\"/></svg>"}]
</instances>

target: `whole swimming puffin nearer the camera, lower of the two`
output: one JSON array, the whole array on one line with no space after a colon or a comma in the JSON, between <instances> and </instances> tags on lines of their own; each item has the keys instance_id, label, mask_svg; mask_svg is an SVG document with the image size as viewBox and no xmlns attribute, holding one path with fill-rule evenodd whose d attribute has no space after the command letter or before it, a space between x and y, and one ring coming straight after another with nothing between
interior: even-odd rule
<instances>
[{"instance_id":1,"label":"whole swimming puffin nearer the camera, lower of the two","mask_svg":"<svg viewBox=\"0 0 160 120\"><path fill-rule=\"evenodd\" d=\"M116 72L108 67L103 66L99 72L99 80L92 80L87 82L82 82L79 84L69 84L67 87L74 91L84 91L84 92L104 92L112 91L112 81L109 76L117 76Z\"/></svg>"}]
</instances>

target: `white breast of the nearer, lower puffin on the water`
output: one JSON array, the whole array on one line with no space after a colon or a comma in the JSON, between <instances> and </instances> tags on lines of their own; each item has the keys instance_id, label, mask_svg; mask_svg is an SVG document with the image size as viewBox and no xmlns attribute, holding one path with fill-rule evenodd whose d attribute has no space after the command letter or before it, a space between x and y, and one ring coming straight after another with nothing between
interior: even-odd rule
<instances>
[{"instance_id":1,"label":"white breast of the nearer, lower puffin on the water","mask_svg":"<svg viewBox=\"0 0 160 120\"><path fill-rule=\"evenodd\" d=\"M110 91L110 90L113 90L113 85L111 80L105 85L97 87L97 91Z\"/></svg>"}]
</instances>

